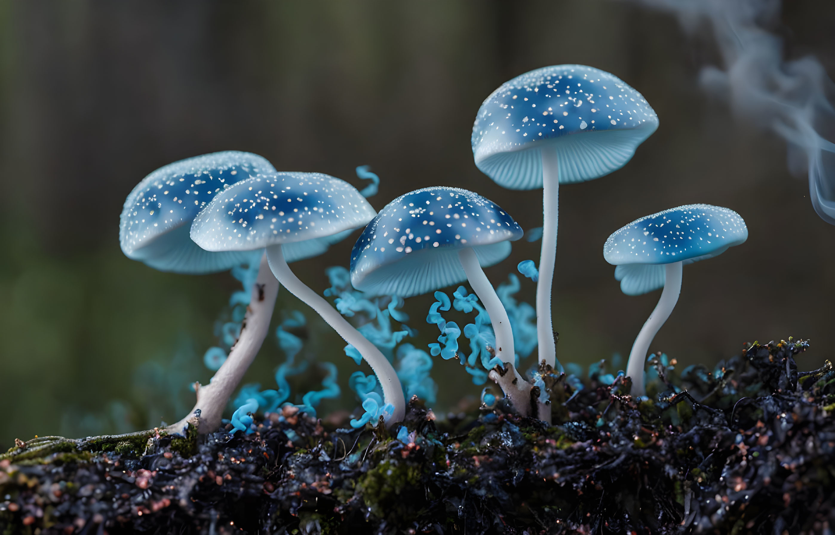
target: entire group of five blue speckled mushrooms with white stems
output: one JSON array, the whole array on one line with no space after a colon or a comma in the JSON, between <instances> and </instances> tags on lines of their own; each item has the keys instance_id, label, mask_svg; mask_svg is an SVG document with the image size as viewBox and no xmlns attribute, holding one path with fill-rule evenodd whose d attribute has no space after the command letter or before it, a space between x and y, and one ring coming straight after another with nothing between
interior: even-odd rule
<instances>
[{"instance_id":1,"label":"entire group of five blue speckled mushrooms with white stems","mask_svg":"<svg viewBox=\"0 0 835 535\"><path fill-rule=\"evenodd\" d=\"M320 173L281 172L256 154L221 152L181 160L145 177L124 203L124 254L157 270L202 274L258 264L240 336L210 384L196 386L188 424L213 432L266 338L279 284L310 305L358 351L382 386L382 417L402 420L405 401L392 364L316 291L291 262L324 253L365 226L351 255L351 282L368 295L411 297L467 280L490 316L490 371L515 410L550 421L548 384L559 374L551 321L559 184L596 179L625 165L658 127L640 93L610 73L557 65L504 83L481 105L473 125L475 164L509 189L543 189L544 224L536 313L539 371L534 386L514 369L508 314L482 267L510 254L523 230L481 195L445 186L403 194L379 213L351 184ZM682 265L720 255L747 238L736 212L691 204L649 215L610 236L605 260L627 295L664 288L635 340L626 375L643 396L644 365L655 333L676 305ZM254 263L254 264L253 264ZM535 272L536 270L534 270ZM493 362L498 362L493 360Z\"/></svg>"}]
</instances>

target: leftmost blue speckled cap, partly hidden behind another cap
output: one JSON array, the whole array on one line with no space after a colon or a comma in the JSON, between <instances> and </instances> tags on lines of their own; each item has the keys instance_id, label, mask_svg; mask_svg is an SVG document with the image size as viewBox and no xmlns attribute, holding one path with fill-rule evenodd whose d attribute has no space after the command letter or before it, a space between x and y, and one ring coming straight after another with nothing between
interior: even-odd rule
<instances>
[{"instance_id":1,"label":"leftmost blue speckled cap, partly hidden behind another cap","mask_svg":"<svg viewBox=\"0 0 835 535\"><path fill-rule=\"evenodd\" d=\"M119 244L124 255L162 271L229 270L252 255L211 255L189 237L192 220L215 194L259 173L274 172L257 154L226 151L168 164L146 176L124 201Z\"/></svg>"}]
</instances>

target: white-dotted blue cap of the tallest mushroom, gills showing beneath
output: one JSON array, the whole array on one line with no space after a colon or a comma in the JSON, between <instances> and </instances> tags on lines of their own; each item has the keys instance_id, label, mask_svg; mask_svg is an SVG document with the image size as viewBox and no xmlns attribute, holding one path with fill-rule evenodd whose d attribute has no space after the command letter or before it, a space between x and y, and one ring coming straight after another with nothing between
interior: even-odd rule
<instances>
[{"instance_id":1,"label":"white-dotted blue cap of the tallest mushroom, gills showing beneath","mask_svg":"<svg viewBox=\"0 0 835 535\"><path fill-rule=\"evenodd\" d=\"M620 78L554 65L493 91L478 109L471 143L476 166L497 184L536 189L544 144L557 151L559 184L571 184L620 169L657 128L650 104Z\"/></svg>"}]
</instances>

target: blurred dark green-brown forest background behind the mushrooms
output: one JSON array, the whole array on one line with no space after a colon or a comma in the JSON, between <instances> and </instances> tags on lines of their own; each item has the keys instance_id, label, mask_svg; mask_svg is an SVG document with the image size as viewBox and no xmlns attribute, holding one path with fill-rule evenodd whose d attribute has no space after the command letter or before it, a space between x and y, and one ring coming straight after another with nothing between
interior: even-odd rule
<instances>
[{"instance_id":1,"label":"blurred dark green-brown forest background behind the mushrooms","mask_svg":"<svg viewBox=\"0 0 835 535\"><path fill-rule=\"evenodd\" d=\"M772 21L787 58L814 54L835 73L835 4L792 0ZM473 164L479 104L533 68L585 63L645 95L660 129L603 179L560 191L554 320L562 361L588 364L631 343L659 292L620 293L601 250L611 232L680 204L735 209L745 245L686 268L681 299L653 350L712 364L746 341L809 339L803 368L832 358L835 227L815 215L782 140L706 97L699 69L720 63L709 33L613 0L69 3L0 0L0 449L15 437L129 432L179 419L238 284L229 274L159 273L121 254L119 212L152 170L224 149L277 169L353 184L370 164L380 209L429 185L473 189L524 228L541 225L539 191L499 188ZM353 240L296 264L316 290L347 265ZM496 283L539 242L514 245ZM533 302L534 284L519 294ZM407 300L411 340L430 298ZM335 361L342 400L357 366L306 313L303 352ZM274 386L283 360L268 338L246 380ZM436 362L436 411L477 395L462 366ZM303 385L299 385L301 388ZM301 392L296 392L301 393Z\"/></svg>"}]
</instances>

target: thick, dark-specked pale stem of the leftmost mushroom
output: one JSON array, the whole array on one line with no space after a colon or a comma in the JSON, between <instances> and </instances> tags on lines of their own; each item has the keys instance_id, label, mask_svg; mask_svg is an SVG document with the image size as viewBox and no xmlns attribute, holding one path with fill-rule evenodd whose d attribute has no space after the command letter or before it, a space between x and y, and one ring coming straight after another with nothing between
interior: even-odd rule
<instances>
[{"instance_id":1,"label":"thick, dark-specked pale stem of the leftmost mushroom","mask_svg":"<svg viewBox=\"0 0 835 535\"><path fill-rule=\"evenodd\" d=\"M198 383L195 408L191 410L189 416L169 426L169 432L182 433L183 428L193 421L195 411L198 410L200 410L200 417L197 419L197 432L205 434L217 430L226 403L229 402L232 392L235 391L246 370L256 358L270 330L278 287L278 280L272 275L270 266L267 264L266 254L261 255L258 276L255 284L252 285L250 304L246 307L246 315L235 346L232 346L229 356L215 372L210 383L205 386L200 386Z\"/></svg>"}]
</instances>

